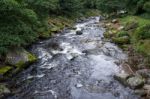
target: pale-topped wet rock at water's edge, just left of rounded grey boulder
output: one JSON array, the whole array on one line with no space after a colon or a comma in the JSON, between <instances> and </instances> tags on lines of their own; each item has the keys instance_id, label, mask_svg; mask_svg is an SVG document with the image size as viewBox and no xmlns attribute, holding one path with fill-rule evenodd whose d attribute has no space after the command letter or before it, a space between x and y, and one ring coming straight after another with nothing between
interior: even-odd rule
<instances>
[{"instance_id":1,"label":"pale-topped wet rock at water's edge, just left of rounded grey boulder","mask_svg":"<svg viewBox=\"0 0 150 99\"><path fill-rule=\"evenodd\" d=\"M120 73L120 74L114 75L114 79L126 86L127 85L126 80L128 79L129 76L130 76L129 74Z\"/></svg>"}]
</instances>

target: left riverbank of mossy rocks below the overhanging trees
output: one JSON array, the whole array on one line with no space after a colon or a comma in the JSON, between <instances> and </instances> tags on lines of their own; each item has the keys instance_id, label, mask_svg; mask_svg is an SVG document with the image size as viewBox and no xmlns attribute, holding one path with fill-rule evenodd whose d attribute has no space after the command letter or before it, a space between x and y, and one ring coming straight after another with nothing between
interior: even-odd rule
<instances>
[{"instance_id":1,"label":"left riverbank of mossy rocks below the overhanging trees","mask_svg":"<svg viewBox=\"0 0 150 99\"><path fill-rule=\"evenodd\" d=\"M87 17L97 15L99 15L98 11L93 12L93 10L89 10L80 17L50 16L47 31L39 32L39 37L36 41L52 38L53 35L61 33L65 28L74 29L73 24L75 22L83 22ZM38 31L43 31L43 29L40 28ZM38 58L28 50L27 46L24 48L13 48L5 56L2 56L0 60L0 97L5 97L13 93L9 89L11 85L8 85L7 81L15 79L16 74L26 70L31 64L38 61Z\"/></svg>"}]
</instances>

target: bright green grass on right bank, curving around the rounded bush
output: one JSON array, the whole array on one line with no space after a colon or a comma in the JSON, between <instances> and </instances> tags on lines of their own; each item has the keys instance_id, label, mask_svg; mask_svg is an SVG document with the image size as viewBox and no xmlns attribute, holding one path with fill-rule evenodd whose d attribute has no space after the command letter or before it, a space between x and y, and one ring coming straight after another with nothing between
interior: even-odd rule
<instances>
[{"instance_id":1,"label":"bright green grass on right bank, curving around the rounded bush","mask_svg":"<svg viewBox=\"0 0 150 99\"><path fill-rule=\"evenodd\" d=\"M150 19L144 18L143 16L126 16L120 18L120 23L123 26L126 26L127 23L137 22L138 27L135 28L133 31L128 31L131 36L132 45L134 46L135 50L143 55L150 56L150 38L147 39L137 39L137 31L145 26L146 24L150 24ZM143 34L141 35L143 36Z\"/></svg>"}]
</instances>

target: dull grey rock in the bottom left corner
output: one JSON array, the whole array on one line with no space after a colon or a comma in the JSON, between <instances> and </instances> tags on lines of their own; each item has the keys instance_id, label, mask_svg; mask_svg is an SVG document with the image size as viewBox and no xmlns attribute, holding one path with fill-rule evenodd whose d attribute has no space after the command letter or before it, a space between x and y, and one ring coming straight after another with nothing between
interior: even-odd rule
<instances>
[{"instance_id":1,"label":"dull grey rock in the bottom left corner","mask_svg":"<svg viewBox=\"0 0 150 99\"><path fill-rule=\"evenodd\" d=\"M6 85L0 84L0 98L9 94L11 94L11 91L6 87Z\"/></svg>"}]
</instances>

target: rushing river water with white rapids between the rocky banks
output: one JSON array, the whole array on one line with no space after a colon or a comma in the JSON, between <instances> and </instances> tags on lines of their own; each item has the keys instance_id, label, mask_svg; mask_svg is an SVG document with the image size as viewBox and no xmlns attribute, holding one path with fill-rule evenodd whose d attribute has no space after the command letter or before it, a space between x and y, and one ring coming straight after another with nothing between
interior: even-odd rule
<instances>
[{"instance_id":1,"label":"rushing river water with white rapids between the rocky banks","mask_svg":"<svg viewBox=\"0 0 150 99\"><path fill-rule=\"evenodd\" d=\"M114 80L127 56L103 39L99 17L33 45L39 60L13 80L8 99L139 99ZM81 30L82 35L76 35Z\"/></svg>"}]
</instances>

